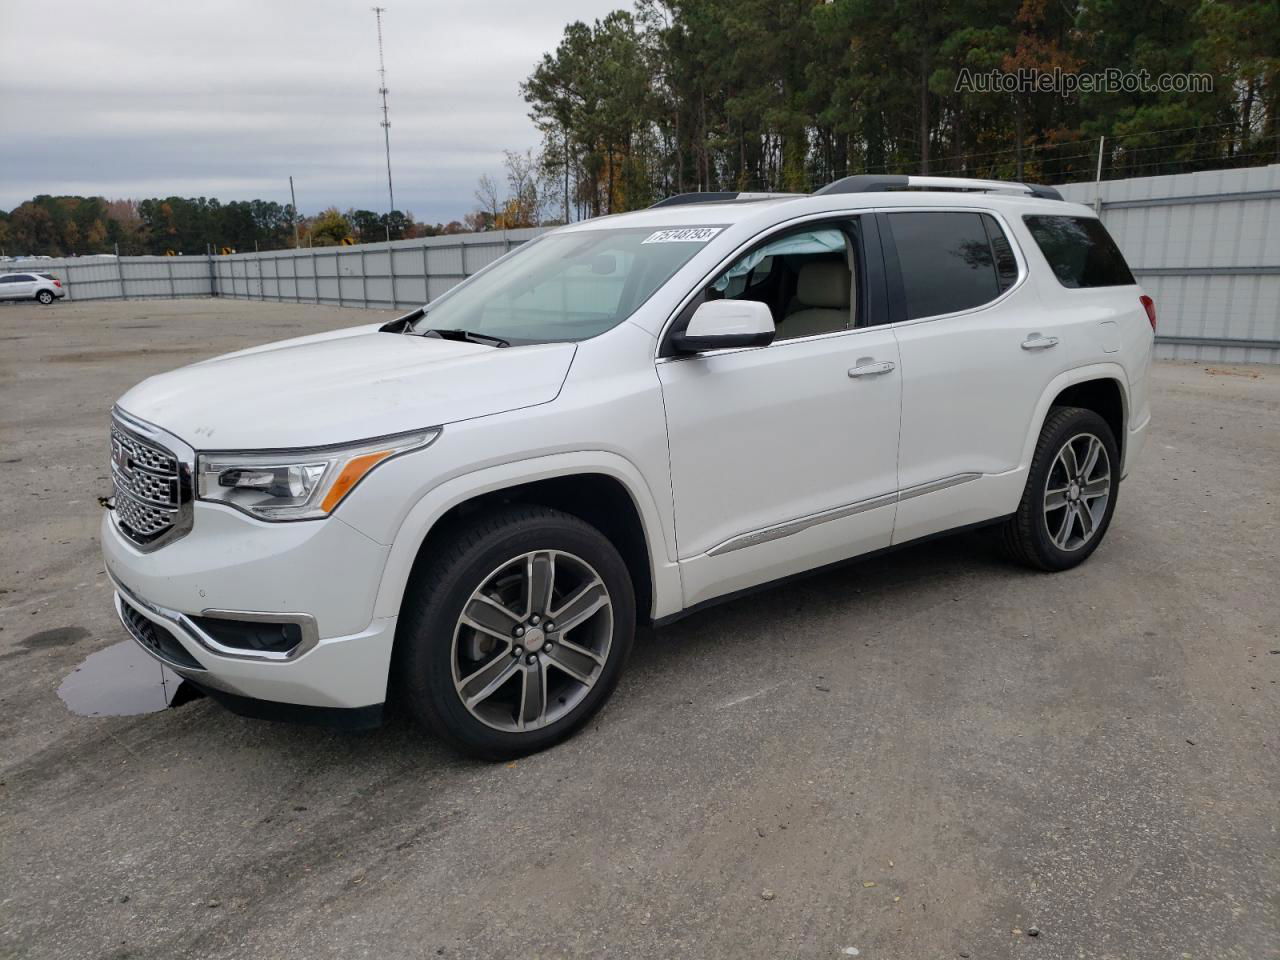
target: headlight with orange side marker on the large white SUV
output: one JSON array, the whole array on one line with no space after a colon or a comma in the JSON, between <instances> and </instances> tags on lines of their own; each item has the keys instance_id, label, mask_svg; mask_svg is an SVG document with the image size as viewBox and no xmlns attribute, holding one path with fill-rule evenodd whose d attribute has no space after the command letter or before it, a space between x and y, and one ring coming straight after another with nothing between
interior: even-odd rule
<instances>
[{"instance_id":1,"label":"headlight with orange side marker on the large white SUV","mask_svg":"<svg viewBox=\"0 0 1280 960\"><path fill-rule=\"evenodd\" d=\"M326 517L379 463L429 447L439 429L343 447L274 453L201 453L200 499L225 503L260 520Z\"/></svg>"}]
</instances>

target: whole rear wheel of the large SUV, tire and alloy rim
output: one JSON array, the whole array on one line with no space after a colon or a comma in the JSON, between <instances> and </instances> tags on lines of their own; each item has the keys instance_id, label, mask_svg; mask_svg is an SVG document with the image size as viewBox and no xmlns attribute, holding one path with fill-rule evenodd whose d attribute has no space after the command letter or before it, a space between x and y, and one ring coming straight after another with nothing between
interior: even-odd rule
<instances>
[{"instance_id":1,"label":"whole rear wheel of the large SUV, tire and alloy rim","mask_svg":"<svg viewBox=\"0 0 1280 960\"><path fill-rule=\"evenodd\" d=\"M1055 407L1044 420L1018 512L1004 526L1007 553L1037 570L1069 570L1093 553L1120 492L1120 451L1092 410Z\"/></svg>"}]
</instances>

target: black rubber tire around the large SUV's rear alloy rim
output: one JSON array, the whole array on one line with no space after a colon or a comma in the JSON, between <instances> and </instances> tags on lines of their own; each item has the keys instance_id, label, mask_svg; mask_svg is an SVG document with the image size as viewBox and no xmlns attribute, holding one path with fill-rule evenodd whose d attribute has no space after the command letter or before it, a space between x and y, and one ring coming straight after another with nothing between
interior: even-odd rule
<instances>
[{"instance_id":1,"label":"black rubber tire around the large SUV's rear alloy rim","mask_svg":"<svg viewBox=\"0 0 1280 960\"><path fill-rule=\"evenodd\" d=\"M1047 486L1051 475L1062 476L1062 466L1057 463L1060 452L1073 438L1094 436L1102 443L1107 458L1107 499L1101 520L1094 521L1093 532L1087 540L1073 549L1062 549L1055 541L1055 532L1064 530L1065 513L1050 513L1046 507ZM1079 449L1080 440L1075 440ZM1087 442L1085 442L1087 443ZM1056 471L1056 472L1055 472ZM1060 480L1057 480L1060 483ZM1071 488L1078 489L1076 486ZM1041 428L1036 454L1027 476L1027 488L1018 504L1018 512L1001 529L1001 541L1005 553L1012 559L1034 570L1070 570L1083 563L1102 543L1111 516L1115 513L1116 498L1120 493L1120 449L1107 421L1092 410L1080 407L1053 407ZM1065 508L1064 508L1065 509ZM1083 532L1083 522L1076 521L1074 531ZM1051 530L1051 525L1055 530ZM1079 539L1073 536L1071 539Z\"/></svg>"}]
</instances>

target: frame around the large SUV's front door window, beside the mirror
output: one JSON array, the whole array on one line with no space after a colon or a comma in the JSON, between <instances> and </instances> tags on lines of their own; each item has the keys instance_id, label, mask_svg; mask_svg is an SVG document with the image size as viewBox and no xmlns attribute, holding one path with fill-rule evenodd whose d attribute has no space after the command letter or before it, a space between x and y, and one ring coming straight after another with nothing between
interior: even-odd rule
<instances>
[{"instance_id":1,"label":"frame around the large SUV's front door window, beside the mirror","mask_svg":"<svg viewBox=\"0 0 1280 960\"><path fill-rule=\"evenodd\" d=\"M851 221L856 220L859 223L863 233L860 237L861 243L859 246L863 250L863 265L867 271L867 279L865 283L859 284L858 306L859 308L865 308L868 314L874 311L879 315L879 320L874 324L852 326L847 330L831 330L828 333L815 333L810 337L795 337L786 340L774 340L774 343L771 343L769 347L728 347L723 351L714 351L714 355L736 353L742 349L769 349L773 346L782 346L787 343L808 343L810 340L827 337L849 337L852 334L865 333L867 330L887 329L892 323L891 317L884 314L887 306L887 291L884 287L887 270L883 256L877 256L879 252L881 230L874 214L874 210L868 210L865 207L855 210L827 210L820 214L808 214L805 216L776 223L764 233L758 233L744 241L733 250L732 253L719 260L714 268L708 270L707 274L696 284L694 284L694 288L685 294L685 297L680 301L680 305L671 312L667 321L662 326L662 333L658 337L658 349L654 360L659 364L664 364L669 361L692 360L696 356L703 356L677 353L672 347L671 338L682 323L687 323L685 319L686 312L691 315L692 310L696 310L703 303L703 293L707 289L707 284L756 247L772 243L787 233L812 230L818 224L832 225L842 233L847 233L847 227ZM873 288L876 288L879 293L876 298L872 298Z\"/></svg>"}]
</instances>

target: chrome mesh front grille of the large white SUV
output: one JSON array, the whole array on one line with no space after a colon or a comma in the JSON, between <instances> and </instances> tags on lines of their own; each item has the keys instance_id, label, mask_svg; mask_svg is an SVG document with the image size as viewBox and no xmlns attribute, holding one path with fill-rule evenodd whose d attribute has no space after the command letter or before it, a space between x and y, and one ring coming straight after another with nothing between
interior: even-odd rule
<instances>
[{"instance_id":1,"label":"chrome mesh front grille of the large white SUV","mask_svg":"<svg viewBox=\"0 0 1280 960\"><path fill-rule=\"evenodd\" d=\"M159 545L179 535L189 492L183 484L183 463L160 444L143 440L125 426L111 424L111 481L115 486L115 522L140 545Z\"/></svg>"}]
</instances>

